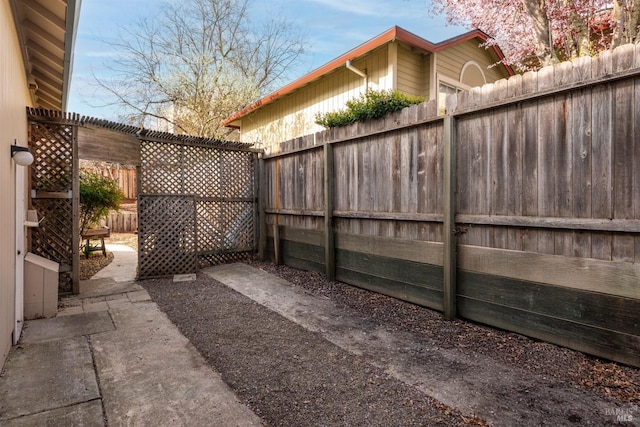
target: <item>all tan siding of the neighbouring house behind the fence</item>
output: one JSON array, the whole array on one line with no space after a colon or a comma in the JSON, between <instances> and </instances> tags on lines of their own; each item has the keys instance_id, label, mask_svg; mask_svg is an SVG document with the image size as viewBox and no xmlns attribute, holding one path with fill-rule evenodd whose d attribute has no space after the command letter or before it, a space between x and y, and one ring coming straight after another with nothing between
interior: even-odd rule
<instances>
[{"instance_id":1,"label":"all tan siding of the neighbouring house behind the fence","mask_svg":"<svg viewBox=\"0 0 640 427\"><path fill-rule=\"evenodd\" d=\"M483 67L488 82L506 77L500 67L487 68L498 58L490 56L492 51L479 49L478 43L476 40L468 41L436 54L436 71L457 81L463 65L473 60ZM390 55L393 55L392 49L386 44L353 60L352 65L367 71L370 89L396 88L429 99L431 55L414 52L399 43L395 87L394 77L389 72L390 61L393 61ZM362 92L364 80L346 67L341 67L244 117L240 139L270 147L281 141L321 131L323 128L315 124L316 114L341 110L349 99Z\"/></svg>"}]
</instances>

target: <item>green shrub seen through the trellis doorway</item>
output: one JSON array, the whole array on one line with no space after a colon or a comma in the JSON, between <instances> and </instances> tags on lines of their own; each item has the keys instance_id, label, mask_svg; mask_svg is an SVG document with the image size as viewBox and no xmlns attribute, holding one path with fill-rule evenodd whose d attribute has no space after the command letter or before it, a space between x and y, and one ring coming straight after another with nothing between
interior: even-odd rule
<instances>
[{"instance_id":1,"label":"green shrub seen through the trellis doorway","mask_svg":"<svg viewBox=\"0 0 640 427\"><path fill-rule=\"evenodd\" d=\"M97 173L80 173L80 234L98 225L109 210L120 209L124 193L118 182Z\"/></svg>"}]
</instances>

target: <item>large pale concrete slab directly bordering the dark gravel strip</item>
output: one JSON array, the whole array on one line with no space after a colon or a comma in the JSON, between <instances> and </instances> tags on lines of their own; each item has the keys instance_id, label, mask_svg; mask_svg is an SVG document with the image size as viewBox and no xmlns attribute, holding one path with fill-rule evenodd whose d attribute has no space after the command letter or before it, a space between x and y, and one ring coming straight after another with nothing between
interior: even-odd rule
<instances>
[{"instance_id":1,"label":"large pale concrete slab directly bordering the dark gravel strip","mask_svg":"<svg viewBox=\"0 0 640 427\"><path fill-rule=\"evenodd\" d=\"M113 315L91 337L109 425L261 425L155 304Z\"/></svg>"}]
</instances>

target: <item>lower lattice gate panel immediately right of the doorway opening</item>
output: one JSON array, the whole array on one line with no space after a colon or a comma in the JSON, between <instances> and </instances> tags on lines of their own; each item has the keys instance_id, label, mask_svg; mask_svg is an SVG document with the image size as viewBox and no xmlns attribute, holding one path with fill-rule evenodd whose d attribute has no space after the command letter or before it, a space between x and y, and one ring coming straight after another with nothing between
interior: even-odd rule
<instances>
[{"instance_id":1,"label":"lower lattice gate panel immediately right of the doorway opening","mask_svg":"<svg viewBox=\"0 0 640 427\"><path fill-rule=\"evenodd\" d=\"M143 194L138 203L139 277L195 273L195 196Z\"/></svg>"}]
</instances>

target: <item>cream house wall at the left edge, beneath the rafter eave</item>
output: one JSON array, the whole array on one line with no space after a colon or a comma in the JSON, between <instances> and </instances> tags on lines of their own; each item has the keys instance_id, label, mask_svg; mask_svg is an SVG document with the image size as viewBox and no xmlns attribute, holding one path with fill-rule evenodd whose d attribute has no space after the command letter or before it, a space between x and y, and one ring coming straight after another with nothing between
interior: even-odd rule
<instances>
[{"instance_id":1,"label":"cream house wall at the left edge, beneath the rafter eave","mask_svg":"<svg viewBox=\"0 0 640 427\"><path fill-rule=\"evenodd\" d=\"M30 104L24 63L9 2L0 4L0 366L11 347L15 316L15 163L9 156L17 139L27 143L25 107ZM27 168L18 166L25 173ZM20 207L25 209L25 207Z\"/></svg>"}]
</instances>

